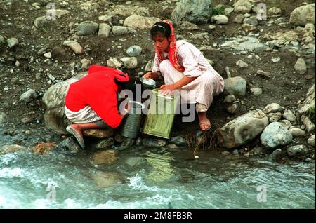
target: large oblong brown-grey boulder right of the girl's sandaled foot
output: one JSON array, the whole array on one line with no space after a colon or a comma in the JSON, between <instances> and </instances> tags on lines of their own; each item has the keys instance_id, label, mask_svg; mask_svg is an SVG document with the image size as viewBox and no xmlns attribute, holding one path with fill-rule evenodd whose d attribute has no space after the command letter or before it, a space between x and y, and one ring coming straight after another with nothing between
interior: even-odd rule
<instances>
[{"instance_id":1,"label":"large oblong brown-grey boulder right of the girl's sandaled foot","mask_svg":"<svg viewBox=\"0 0 316 223\"><path fill-rule=\"evenodd\" d=\"M218 144L226 149L234 149L254 140L268 124L268 117L261 110L248 112L216 130Z\"/></svg>"}]
</instances>

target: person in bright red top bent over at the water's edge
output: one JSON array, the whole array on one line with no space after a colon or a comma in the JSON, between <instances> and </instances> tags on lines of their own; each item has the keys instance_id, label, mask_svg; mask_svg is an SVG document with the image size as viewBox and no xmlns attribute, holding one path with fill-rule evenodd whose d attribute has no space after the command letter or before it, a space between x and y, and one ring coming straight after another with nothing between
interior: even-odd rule
<instances>
[{"instance_id":1,"label":"person in bright red top bent over at the water's edge","mask_svg":"<svg viewBox=\"0 0 316 223\"><path fill-rule=\"evenodd\" d=\"M73 124L66 129L82 148L83 130L117 128L129 112L129 104L121 111L117 109L118 84L128 81L129 76L117 69L92 65L86 76L70 84L65 96L65 114Z\"/></svg>"}]
</instances>

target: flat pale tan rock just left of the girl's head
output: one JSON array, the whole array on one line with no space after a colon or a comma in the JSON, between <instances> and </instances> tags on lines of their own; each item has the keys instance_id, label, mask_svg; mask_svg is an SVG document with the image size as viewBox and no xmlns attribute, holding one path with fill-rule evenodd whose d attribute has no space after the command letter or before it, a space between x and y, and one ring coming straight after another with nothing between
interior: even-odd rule
<instances>
[{"instance_id":1,"label":"flat pale tan rock just left of the girl's head","mask_svg":"<svg viewBox=\"0 0 316 223\"><path fill-rule=\"evenodd\" d=\"M141 15L131 15L124 20L123 25L133 29L150 29L154 23L161 21L156 17L144 17Z\"/></svg>"}]
</instances>

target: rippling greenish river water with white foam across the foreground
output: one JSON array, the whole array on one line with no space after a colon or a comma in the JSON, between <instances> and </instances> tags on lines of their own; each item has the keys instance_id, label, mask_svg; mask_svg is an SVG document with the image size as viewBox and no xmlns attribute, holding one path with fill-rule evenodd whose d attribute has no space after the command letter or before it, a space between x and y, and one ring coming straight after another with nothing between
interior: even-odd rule
<instances>
[{"instance_id":1,"label":"rippling greenish river water with white foam across the foreground","mask_svg":"<svg viewBox=\"0 0 316 223\"><path fill-rule=\"evenodd\" d=\"M0 208L315 208L315 161L143 147L96 165L96 152L2 154Z\"/></svg>"}]
</instances>

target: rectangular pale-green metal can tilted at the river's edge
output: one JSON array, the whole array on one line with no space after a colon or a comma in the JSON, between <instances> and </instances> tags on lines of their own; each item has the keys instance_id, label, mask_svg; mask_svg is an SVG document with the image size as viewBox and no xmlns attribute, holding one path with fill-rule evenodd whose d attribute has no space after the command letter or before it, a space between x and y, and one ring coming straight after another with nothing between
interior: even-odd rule
<instances>
[{"instance_id":1,"label":"rectangular pale-green metal can tilted at the river's edge","mask_svg":"<svg viewBox=\"0 0 316 223\"><path fill-rule=\"evenodd\" d=\"M163 95L152 90L143 133L169 139L178 106L178 95Z\"/></svg>"}]
</instances>

